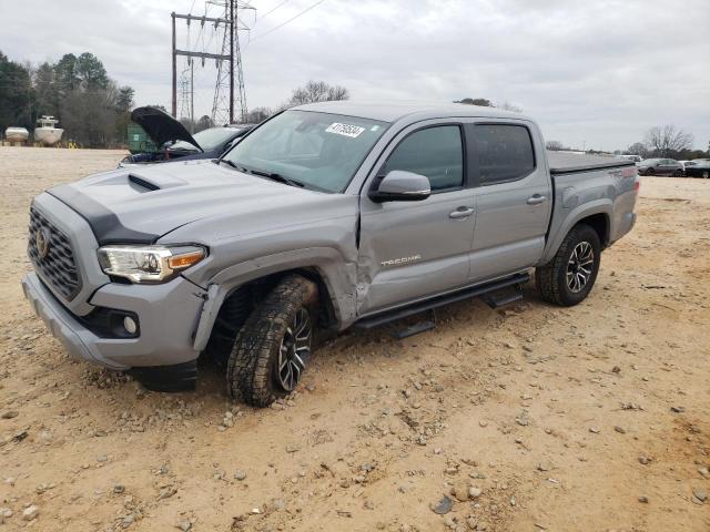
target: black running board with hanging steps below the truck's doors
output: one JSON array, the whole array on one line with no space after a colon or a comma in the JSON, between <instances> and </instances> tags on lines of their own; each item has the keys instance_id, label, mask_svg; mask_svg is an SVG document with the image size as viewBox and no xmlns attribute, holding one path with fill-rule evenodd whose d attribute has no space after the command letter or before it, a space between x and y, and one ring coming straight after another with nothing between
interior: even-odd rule
<instances>
[{"instance_id":1,"label":"black running board with hanging steps below the truck's doors","mask_svg":"<svg viewBox=\"0 0 710 532\"><path fill-rule=\"evenodd\" d=\"M519 298L523 297L521 294L519 294L520 290L520 285L527 283L528 280L530 280L530 274L525 273L525 274L516 274L511 277L507 277L505 279L500 279L500 280L495 280L493 283L487 283L485 285L479 285L479 286L475 286L471 288L465 288L463 290L458 290L455 291L453 294L446 294L444 296L438 296L438 297L434 297L432 299L427 299L425 301L419 301L419 303L415 303L406 308L399 308L399 309L394 309L394 310L388 310L385 313L381 313L381 314L376 314L374 316L368 316L366 318L361 319L359 321L356 321L354 327L357 327L358 329L372 329L374 327L379 327L381 325L385 325L385 324L389 324L392 321L396 321L398 319L403 319L403 318L407 318L409 316L414 316L415 314L419 314L419 313L424 313L427 310L433 310L435 308L442 307L444 305L450 305L452 303L457 303L457 301L463 301L465 299L470 299L474 297L480 297L480 296L485 296L487 294L491 294L494 291L500 290L503 288L509 288L509 287L515 287L516 288L516 299L511 299L508 303L511 303L513 300L518 300ZM505 298L500 298L498 299L499 301L503 301ZM505 303L501 303L503 305L505 305ZM424 327L424 325L427 324L426 321L424 324L417 324L410 328L417 327ZM432 324L434 325L434 324ZM419 331L423 330L428 330L433 328L428 327L428 328L424 328ZM404 329L404 331L406 331L407 329ZM403 331L403 332L404 332ZM416 334L416 332L415 332ZM408 335L412 336L412 335Z\"/></svg>"}]
</instances>

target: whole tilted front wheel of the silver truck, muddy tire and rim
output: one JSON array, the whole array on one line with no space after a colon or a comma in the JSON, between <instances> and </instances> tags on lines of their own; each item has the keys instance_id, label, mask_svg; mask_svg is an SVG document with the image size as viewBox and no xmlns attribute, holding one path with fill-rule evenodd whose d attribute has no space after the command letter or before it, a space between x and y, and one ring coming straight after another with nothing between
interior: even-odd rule
<instances>
[{"instance_id":1,"label":"whole tilted front wheel of the silver truck, muddy tire and rim","mask_svg":"<svg viewBox=\"0 0 710 532\"><path fill-rule=\"evenodd\" d=\"M267 407L296 388L311 358L316 299L314 283L290 275L257 305L227 364L234 399Z\"/></svg>"}]
</instances>

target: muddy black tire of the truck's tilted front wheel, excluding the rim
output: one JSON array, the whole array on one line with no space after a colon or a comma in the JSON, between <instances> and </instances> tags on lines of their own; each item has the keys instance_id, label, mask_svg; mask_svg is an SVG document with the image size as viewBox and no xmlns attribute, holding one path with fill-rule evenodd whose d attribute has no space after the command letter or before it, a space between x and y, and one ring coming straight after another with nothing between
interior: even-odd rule
<instances>
[{"instance_id":1,"label":"muddy black tire of the truck's tilted front wheel, excluding the rim","mask_svg":"<svg viewBox=\"0 0 710 532\"><path fill-rule=\"evenodd\" d=\"M233 399L268 407L290 393L278 382L278 352L286 329L300 309L305 309L314 323L317 294L313 282L288 275L254 308L236 337L227 362L227 388Z\"/></svg>"}]
</instances>

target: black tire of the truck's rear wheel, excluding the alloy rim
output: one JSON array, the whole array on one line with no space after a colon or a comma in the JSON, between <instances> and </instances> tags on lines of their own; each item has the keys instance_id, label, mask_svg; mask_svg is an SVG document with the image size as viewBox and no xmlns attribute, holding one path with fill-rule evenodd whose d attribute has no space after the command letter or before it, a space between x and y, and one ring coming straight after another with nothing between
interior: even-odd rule
<instances>
[{"instance_id":1,"label":"black tire of the truck's rear wheel, excluding the alloy rim","mask_svg":"<svg viewBox=\"0 0 710 532\"><path fill-rule=\"evenodd\" d=\"M594 252L591 275L580 291L572 291L567 284L567 267L575 248L587 242ZM590 226L579 224L572 227L559 246L552 260L535 269L535 286L542 299L562 307L581 303L591 291L599 273L601 244L599 235Z\"/></svg>"}]
</instances>

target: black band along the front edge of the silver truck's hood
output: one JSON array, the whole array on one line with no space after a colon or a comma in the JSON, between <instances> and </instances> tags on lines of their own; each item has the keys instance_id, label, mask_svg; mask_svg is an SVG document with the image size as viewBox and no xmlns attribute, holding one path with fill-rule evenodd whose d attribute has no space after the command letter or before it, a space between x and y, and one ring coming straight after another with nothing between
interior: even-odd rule
<instances>
[{"instance_id":1,"label":"black band along the front edge of the silver truck's hood","mask_svg":"<svg viewBox=\"0 0 710 532\"><path fill-rule=\"evenodd\" d=\"M71 185L60 185L47 191L47 193L67 204L84 218L101 246L106 244L153 244L160 237L160 235L124 227L112 211Z\"/></svg>"}]
</instances>

